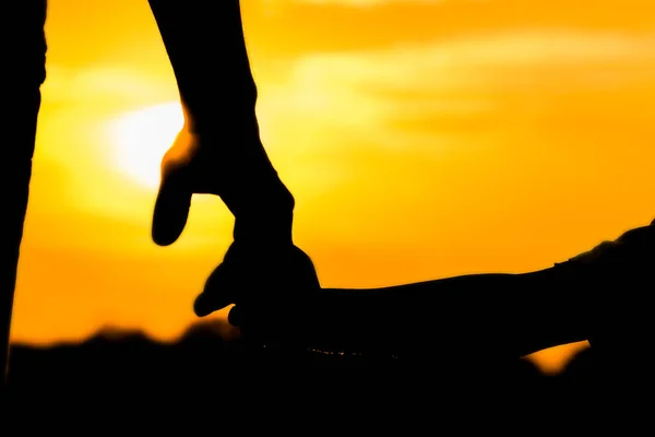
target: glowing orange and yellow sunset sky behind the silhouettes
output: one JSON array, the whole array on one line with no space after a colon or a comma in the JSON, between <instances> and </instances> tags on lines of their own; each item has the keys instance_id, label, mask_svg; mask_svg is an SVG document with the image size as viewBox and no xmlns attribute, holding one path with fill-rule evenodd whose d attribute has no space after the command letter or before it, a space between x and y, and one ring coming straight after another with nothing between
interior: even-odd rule
<instances>
[{"instance_id":1,"label":"glowing orange and yellow sunset sky behind the silhouettes","mask_svg":"<svg viewBox=\"0 0 655 437\"><path fill-rule=\"evenodd\" d=\"M539 269L655 216L652 1L242 11L262 135L324 286ZM174 339L233 221L198 197L178 243L150 239L181 115L147 1L50 0L46 32L12 339L107 324Z\"/></svg>"}]
</instances>

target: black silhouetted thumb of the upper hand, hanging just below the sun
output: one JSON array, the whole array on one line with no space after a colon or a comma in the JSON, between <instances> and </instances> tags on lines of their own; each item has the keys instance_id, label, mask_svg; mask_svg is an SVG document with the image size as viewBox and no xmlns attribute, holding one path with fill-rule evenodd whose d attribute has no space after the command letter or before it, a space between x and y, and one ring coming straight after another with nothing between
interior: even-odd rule
<instances>
[{"instance_id":1,"label":"black silhouetted thumb of the upper hand, hanging just below the sun","mask_svg":"<svg viewBox=\"0 0 655 437\"><path fill-rule=\"evenodd\" d=\"M189 177L184 169L165 172L153 211L152 238L158 246L169 246L182 234L191 208Z\"/></svg>"}]
</instances>

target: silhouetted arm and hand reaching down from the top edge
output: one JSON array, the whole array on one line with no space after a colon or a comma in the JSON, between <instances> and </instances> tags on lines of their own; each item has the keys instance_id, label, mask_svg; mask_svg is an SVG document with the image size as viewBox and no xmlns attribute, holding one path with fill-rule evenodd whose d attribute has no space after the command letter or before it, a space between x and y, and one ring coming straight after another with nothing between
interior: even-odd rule
<instances>
[{"instance_id":1,"label":"silhouetted arm and hand reaching down from the top edge","mask_svg":"<svg viewBox=\"0 0 655 437\"><path fill-rule=\"evenodd\" d=\"M186 126L163 161L153 239L174 243L192 193L219 196L235 240L290 241L294 198L264 151L238 0L150 0Z\"/></svg>"}]
</instances>

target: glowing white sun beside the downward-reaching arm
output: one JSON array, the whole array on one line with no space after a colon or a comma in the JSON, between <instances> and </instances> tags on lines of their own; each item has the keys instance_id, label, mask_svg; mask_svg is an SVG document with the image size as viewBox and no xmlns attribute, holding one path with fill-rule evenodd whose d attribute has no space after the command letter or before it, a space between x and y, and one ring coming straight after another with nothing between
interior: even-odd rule
<instances>
[{"instance_id":1,"label":"glowing white sun beside the downward-reaching arm","mask_svg":"<svg viewBox=\"0 0 655 437\"><path fill-rule=\"evenodd\" d=\"M162 157L183 126L182 108L170 102L130 111L110 123L117 169L147 189L159 185Z\"/></svg>"}]
</instances>

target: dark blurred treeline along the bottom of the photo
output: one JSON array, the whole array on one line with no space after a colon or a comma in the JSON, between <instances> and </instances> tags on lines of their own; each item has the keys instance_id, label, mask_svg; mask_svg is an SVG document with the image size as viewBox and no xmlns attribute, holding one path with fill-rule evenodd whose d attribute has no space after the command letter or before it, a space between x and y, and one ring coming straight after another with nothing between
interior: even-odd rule
<instances>
[{"instance_id":1,"label":"dark blurred treeline along the bottom of the photo","mask_svg":"<svg viewBox=\"0 0 655 437\"><path fill-rule=\"evenodd\" d=\"M450 405L465 415L475 408L497 409L541 423L580 412L599 385L593 350L581 352L556 376L541 374L525 359L493 366L480 357L477 363L441 365L452 362L440 354L434 347L429 363L403 363L251 347L221 321L198 323L175 343L106 330L81 344L14 344L10 415L22 429L49 414L79 415L73 421L78 425L109 418L114 424L164 425L165 416L194 417L199 408L216 417L265 411L306 421L315 414L327 414L322 420L332 422L350 416L362 423L367 417L367 423L373 421L369 426L382 426L408 416L413 423L429 420ZM258 410L258 402L266 405L260 403ZM61 424L66 429L70 425Z\"/></svg>"}]
</instances>

